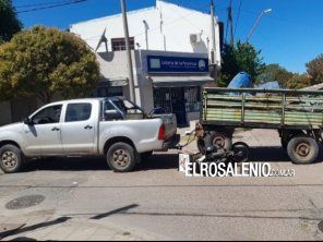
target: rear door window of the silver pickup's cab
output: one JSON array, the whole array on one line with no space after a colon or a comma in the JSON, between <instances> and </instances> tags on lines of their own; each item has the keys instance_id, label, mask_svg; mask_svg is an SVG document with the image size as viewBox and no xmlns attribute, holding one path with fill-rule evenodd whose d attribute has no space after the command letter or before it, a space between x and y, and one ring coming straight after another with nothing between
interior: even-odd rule
<instances>
[{"instance_id":1,"label":"rear door window of the silver pickup's cab","mask_svg":"<svg viewBox=\"0 0 323 242\"><path fill-rule=\"evenodd\" d=\"M88 120L91 110L91 104L70 104L67 108L65 122Z\"/></svg>"}]
</instances>

